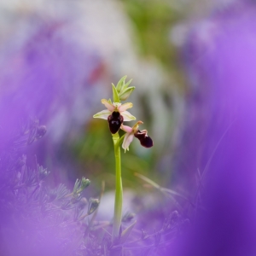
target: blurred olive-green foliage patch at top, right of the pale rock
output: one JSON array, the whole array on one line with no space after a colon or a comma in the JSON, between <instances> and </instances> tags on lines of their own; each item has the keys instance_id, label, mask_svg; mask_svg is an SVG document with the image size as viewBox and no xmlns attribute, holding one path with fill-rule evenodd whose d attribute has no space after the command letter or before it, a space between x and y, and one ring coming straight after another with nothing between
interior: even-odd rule
<instances>
[{"instance_id":1,"label":"blurred olive-green foliage patch at top, right of the pale rock","mask_svg":"<svg viewBox=\"0 0 256 256\"><path fill-rule=\"evenodd\" d=\"M156 56L169 66L176 55L168 35L171 25L180 15L168 1L122 0L136 27L138 44L143 55ZM174 61L174 60L173 60Z\"/></svg>"}]
</instances>

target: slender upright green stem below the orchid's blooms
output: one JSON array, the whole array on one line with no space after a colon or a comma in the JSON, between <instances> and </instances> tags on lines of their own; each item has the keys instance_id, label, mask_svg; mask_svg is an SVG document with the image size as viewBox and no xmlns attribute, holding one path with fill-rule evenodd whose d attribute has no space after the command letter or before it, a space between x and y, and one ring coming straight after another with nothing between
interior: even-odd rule
<instances>
[{"instance_id":1,"label":"slender upright green stem below the orchid's blooms","mask_svg":"<svg viewBox=\"0 0 256 256\"><path fill-rule=\"evenodd\" d=\"M119 133L113 136L113 148L115 158L115 199L114 199L114 215L113 215L113 232L112 241L119 237L119 230L122 220L122 207L123 207L123 186L121 176L121 154L119 147Z\"/></svg>"}]
</instances>

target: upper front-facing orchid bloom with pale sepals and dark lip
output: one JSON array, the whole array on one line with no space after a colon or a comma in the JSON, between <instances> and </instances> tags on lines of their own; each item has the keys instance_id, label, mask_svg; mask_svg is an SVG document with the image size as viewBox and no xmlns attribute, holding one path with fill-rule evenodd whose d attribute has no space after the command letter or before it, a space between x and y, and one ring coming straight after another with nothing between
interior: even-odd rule
<instances>
[{"instance_id":1,"label":"upper front-facing orchid bloom with pale sepals and dark lip","mask_svg":"<svg viewBox=\"0 0 256 256\"><path fill-rule=\"evenodd\" d=\"M111 133L116 133L119 131L120 126L124 121L135 120L136 118L131 115L126 109L132 108L132 103L127 102L121 104L119 102L108 102L106 99L102 99L102 104L105 105L107 109L96 113L93 117L96 119L107 119L109 130Z\"/></svg>"}]
</instances>

